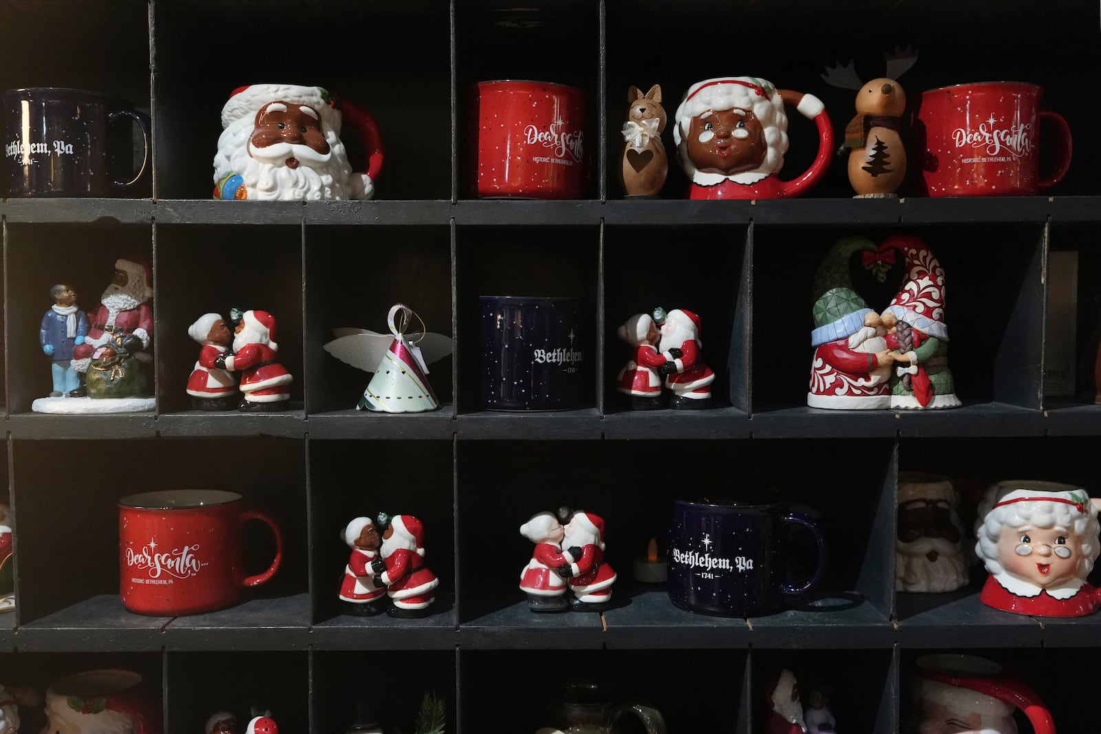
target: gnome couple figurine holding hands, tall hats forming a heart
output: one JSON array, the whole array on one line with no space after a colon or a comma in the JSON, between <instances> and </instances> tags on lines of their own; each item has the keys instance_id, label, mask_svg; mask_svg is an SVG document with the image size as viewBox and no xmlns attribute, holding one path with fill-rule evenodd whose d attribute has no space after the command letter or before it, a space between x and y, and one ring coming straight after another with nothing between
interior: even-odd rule
<instances>
[{"instance_id":1,"label":"gnome couple figurine holding hands, tall hats forming a heart","mask_svg":"<svg viewBox=\"0 0 1101 734\"><path fill-rule=\"evenodd\" d=\"M896 253L905 259L905 281L882 314L852 287L849 260L857 252L880 280ZM945 272L920 238L892 234L879 248L864 237L838 240L815 275L815 298L807 405L840 410L960 405L948 370Z\"/></svg>"}]
</instances>

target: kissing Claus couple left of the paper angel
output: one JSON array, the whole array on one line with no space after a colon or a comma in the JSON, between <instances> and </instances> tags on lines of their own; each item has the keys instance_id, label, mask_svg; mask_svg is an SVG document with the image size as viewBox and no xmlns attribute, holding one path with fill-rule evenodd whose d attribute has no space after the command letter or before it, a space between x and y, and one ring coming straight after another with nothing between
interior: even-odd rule
<instances>
[{"instance_id":1,"label":"kissing Claus couple left of the paper angel","mask_svg":"<svg viewBox=\"0 0 1101 734\"><path fill-rule=\"evenodd\" d=\"M187 328L201 347L187 379L192 407L239 407L244 413L286 409L294 376L275 359L275 317L261 310L233 309L230 315L237 324L232 331L220 314L204 314Z\"/></svg>"}]
</instances>

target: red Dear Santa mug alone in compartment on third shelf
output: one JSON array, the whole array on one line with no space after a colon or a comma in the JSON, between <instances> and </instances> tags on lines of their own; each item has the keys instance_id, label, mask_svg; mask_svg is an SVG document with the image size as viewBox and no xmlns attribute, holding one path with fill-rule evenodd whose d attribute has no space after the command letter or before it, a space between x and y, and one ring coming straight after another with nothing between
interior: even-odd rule
<instances>
[{"instance_id":1,"label":"red Dear Santa mug alone in compartment on third shelf","mask_svg":"<svg viewBox=\"0 0 1101 734\"><path fill-rule=\"evenodd\" d=\"M283 535L236 492L166 490L119 500L119 582L122 605L138 614L176 616L232 605L246 587L270 580L283 559ZM275 559L246 576L242 525L266 523Z\"/></svg>"}]
</instances>

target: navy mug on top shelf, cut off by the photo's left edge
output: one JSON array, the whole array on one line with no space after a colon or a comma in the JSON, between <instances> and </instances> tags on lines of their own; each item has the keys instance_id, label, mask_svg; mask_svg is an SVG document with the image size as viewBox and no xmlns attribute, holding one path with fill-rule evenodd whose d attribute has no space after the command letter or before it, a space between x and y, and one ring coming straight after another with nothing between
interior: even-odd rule
<instances>
[{"instance_id":1,"label":"navy mug on top shelf, cut off by the photo's left edge","mask_svg":"<svg viewBox=\"0 0 1101 734\"><path fill-rule=\"evenodd\" d=\"M135 196L148 184L149 118L124 99L84 89L3 92L8 195ZM132 125L144 153L134 166Z\"/></svg>"}]
</instances>

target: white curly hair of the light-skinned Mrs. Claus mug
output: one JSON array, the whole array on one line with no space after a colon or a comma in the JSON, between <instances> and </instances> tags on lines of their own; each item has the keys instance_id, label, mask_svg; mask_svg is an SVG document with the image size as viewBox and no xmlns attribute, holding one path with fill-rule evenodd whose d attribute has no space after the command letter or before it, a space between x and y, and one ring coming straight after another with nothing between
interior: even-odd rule
<instances>
[{"instance_id":1,"label":"white curly hair of the light-skinned Mrs. Claus mug","mask_svg":"<svg viewBox=\"0 0 1101 734\"><path fill-rule=\"evenodd\" d=\"M1025 497L1043 499L1020 501ZM1068 500L1051 502L1048 497ZM1018 500L995 507L996 504ZM1077 503L1084 500L1083 511ZM974 551L986 562L986 570L992 574L1005 572L1005 567L998 559L998 539L1005 527L1031 525L1036 528L1049 528L1056 525L1067 528L1079 539L1081 549L1081 567L1078 577L1084 579L1093 568L1101 548L1098 546L1098 534L1101 525L1098 523L1097 508L1090 503L1086 490L1068 489L1066 484L1055 482L999 482L986 490L979 504L979 518L974 524L974 535L978 543Z\"/></svg>"}]
</instances>

